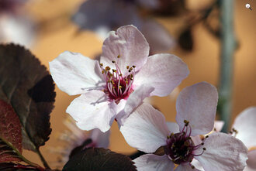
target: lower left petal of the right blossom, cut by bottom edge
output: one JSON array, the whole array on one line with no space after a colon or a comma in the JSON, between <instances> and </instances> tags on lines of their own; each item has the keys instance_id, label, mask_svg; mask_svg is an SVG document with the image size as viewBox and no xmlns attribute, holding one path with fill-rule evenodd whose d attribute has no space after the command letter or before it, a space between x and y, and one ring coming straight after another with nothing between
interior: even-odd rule
<instances>
[{"instance_id":1,"label":"lower left petal of the right blossom, cut by bottom edge","mask_svg":"<svg viewBox=\"0 0 256 171\"><path fill-rule=\"evenodd\" d=\"M147 154L134 159L133 162L138 171L168 171L175 168L174 163L166 155Z\"/></svg>"}]
</instances>

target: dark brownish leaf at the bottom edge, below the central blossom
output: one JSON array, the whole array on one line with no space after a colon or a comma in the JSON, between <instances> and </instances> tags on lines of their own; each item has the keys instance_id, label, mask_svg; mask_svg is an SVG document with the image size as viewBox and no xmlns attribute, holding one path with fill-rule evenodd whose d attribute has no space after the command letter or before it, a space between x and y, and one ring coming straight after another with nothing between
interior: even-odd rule
<instances>
[{"instance_id":1,"label":"dark brownish leaf at the bottom edge, below the central blossom","mask_svg":"<svg viewBox=\"0 0 256 171\"><path fill-rule=\"evenodd\" d=\"M89 148L75 154L64 166L63 171L135 171L133 161L125 155L109 149Z\"/></svg>"}]
</instances>

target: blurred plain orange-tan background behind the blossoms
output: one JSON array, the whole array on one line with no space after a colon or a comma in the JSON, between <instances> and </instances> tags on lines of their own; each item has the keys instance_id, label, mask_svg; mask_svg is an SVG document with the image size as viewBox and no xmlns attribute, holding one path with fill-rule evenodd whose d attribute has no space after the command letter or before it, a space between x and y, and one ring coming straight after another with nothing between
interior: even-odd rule
<instances>
[{"instance_id":1,"label":"blurred plain orange-tan background behind the blossoms","mask_svg":"<svg viewBox=\"0 0 256 171\"><path fill-rule=\"evenodd\" d=\"M78 27L71 22L70 17L78 9L81 0L34 0L30 1L26 8L33 15L36 22L39 22L36 42L31 47L35 56L49 67L48 62L54 60L65 50L82 53L84 56L93 57L101 53L102 41L98 39L94 32L78 32ZM200 9L209 5L211 1L190 0L187 5L190 9ZM250 3L252 11L245 8L245 4ZM234 5L234 29L239 41L239 48L234 56L234 90L233 90L233 117L245 108L256 105L256 2L255 1L235 1ZM103 17L103 16L102 16ZM157 18L165 28L175 36L179 32L180 26L184 25L184 19ZM196 25L192 29L194 37L194 50L192 53L185 53L180 48L175 48L168 53L174 53L182 58L189 66L190 74L179 89L201 82L207 81L215 86L219 79L219 58L220 41L202 26ZM177 38L177 36L176 36ZM51 113L50 140L41 148L43 156L55 167L59 154L52 152L50 147L57 148L61 142L57 140L60 132L66 127L63 124L67 113L67 106L74 97L68 96L56 87L57 97L54 111ZM162 111L168 121L175 121L175 97L153 97L154 104ZM112 151L129 154L135 149L126 144L123 135L120 134L116 123L112 125L110 147ZM38 156L32 152L25 152L25 155L33 162L40 162Z\"/></svg>"}]
</instances>

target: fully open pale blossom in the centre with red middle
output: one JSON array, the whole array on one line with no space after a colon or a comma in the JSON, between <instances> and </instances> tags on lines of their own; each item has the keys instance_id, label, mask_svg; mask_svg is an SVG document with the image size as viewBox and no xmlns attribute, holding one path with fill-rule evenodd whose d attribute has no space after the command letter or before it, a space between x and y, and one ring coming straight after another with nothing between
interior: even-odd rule
<instances>
[{"instance_id":1,"label":"fully open pale blossom in the centre with red middle","mask_svg":"<svg viewBox=\"0 0 256 171\"><path fill-rule=\"evenodd\" d=\"M150 96L167 96L189 74L178 56L149 56L147 40L135 26L123 26L102 46L100 63L80 53L64 52L50 62L61 91L81 94L67 108L79 128L102 132L123 121Z\"/></svg>"}]
</instances>

